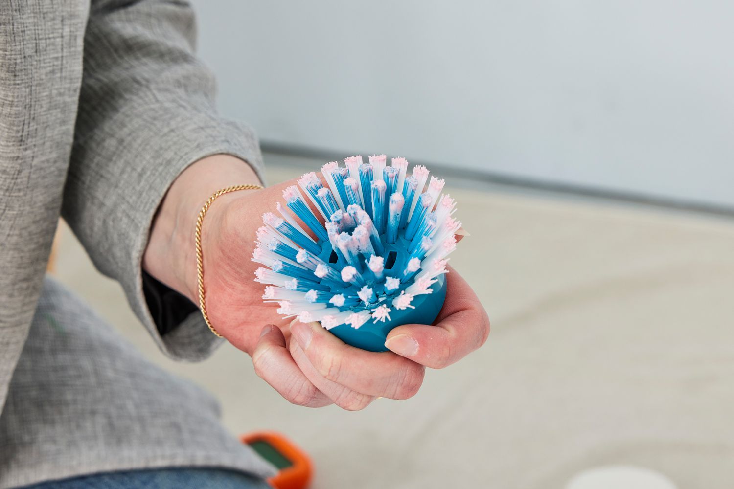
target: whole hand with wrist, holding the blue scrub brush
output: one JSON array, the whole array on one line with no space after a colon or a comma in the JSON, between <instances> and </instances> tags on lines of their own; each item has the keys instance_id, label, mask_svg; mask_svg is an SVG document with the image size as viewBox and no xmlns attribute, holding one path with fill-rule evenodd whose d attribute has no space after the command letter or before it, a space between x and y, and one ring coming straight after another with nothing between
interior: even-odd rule
<instances>
[{"instance_id":1,"label":"whole hand with wrist, holding the blue scrub brush","mask_svg":"<svg viewBox=\"0 0 734 489\"><path fill-rule=\"evenodd\" d=\"M259 181L247 164L231 156L216 155L194 163L172 185L151 233L146 269L195 304L193 224L208 196L234 183ZM250 353L255 371L283 397L299 405L334 402L350 410L366 407L375 397L405 399L420 388L424 366L445 367L484 343L489 332L487 314L453 269L447 275L440 323L396 328L386 343L395 353L371 353L345 345L318 323L296 322L288 328L276 308L261 300L263 287L252 279L258 265L250 257L262 214L272 211L283 188L294 183L219 196L202 229L211 323L236 348Z\"/></svg>"}]
</instances>

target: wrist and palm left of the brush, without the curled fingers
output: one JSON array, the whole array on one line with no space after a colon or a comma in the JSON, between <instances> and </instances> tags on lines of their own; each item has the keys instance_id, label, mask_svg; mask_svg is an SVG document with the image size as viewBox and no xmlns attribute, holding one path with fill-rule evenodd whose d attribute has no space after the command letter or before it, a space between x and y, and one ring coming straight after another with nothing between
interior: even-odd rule
<instances>
[{"instance_id":1,"label":"wrist and palm left of the brush, without the curled fingers","mask_svg":"<svg viewBox=\"0 0 734 489\"><path fill-rule=\"evenodd\" d=\"M156 216L143 265L194 304L199 303L194 247L197 215L214 192L240 183L261 184L239 158L203 158L179 175ZM214 200L203 219L201 246L209 320L219 334L250 354L264 324L275 323L288 332L289 321L262 301L264 287L253 280L259 265L250 258L263 213L272 211L283 188L294 183L290 180L262 190L224 194Z\"/></svg>"}]
</instances>

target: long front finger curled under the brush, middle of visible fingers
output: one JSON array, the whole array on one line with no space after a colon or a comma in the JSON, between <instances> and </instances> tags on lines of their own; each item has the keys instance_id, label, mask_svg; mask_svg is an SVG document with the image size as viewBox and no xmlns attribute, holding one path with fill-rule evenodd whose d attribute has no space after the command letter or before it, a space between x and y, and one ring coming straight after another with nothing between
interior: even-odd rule
<instances>
[{"instance_id":1,"label":"long front finger curled under the brush, middle of visible fingers","mask_svg":"<svg viewBox=\"0 0 734 489\"><path fill-rule=\"evenodd\" d=\"M423 383L421 365L390 352L374 353L346 345L319 323L294 321L291 334L313 370L330 383L390 399L413 397ZM298 362L296 356L294 359ZM305 373L321 389L318 380Z\"/></svg>"}]
</instances>

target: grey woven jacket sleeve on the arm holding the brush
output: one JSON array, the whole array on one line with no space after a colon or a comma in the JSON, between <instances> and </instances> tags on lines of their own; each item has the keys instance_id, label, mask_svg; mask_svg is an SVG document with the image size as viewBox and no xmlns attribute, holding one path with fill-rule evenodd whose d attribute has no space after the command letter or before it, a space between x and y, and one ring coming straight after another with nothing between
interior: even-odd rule
<instances>
[{"instance_id":1,"label":"grey woven jacket sleeve on the arm holding the brush","mask_svg":"<svg viewBox=\"0 0 734 489\"><path fill-rule=\"evenodd\" d=\"M216 114L214 78L194 56L194 38L193 12L184 2L92 2L62 209L96 267L122 284L161 350L192 361L221 340L198 310L159 334L142 285L153 216L175 177L208 155L235 155L262 178L252 130Z\"/></svg>"}]
</instances>

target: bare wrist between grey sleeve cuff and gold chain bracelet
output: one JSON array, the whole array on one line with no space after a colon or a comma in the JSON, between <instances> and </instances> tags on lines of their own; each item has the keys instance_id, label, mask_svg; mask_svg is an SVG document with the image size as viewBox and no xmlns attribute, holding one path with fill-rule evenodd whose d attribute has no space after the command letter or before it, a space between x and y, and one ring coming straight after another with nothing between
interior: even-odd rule
<instances>
[{"instance_id":1,"label":"bare wrist between grey sleeve cuff and gold chain bracelet","mask_svg":"<svg viewBox=\"0 0 734 489\"><path fill-rule=\"evenodd\" d=\"M198 304L195 227L212 194L240 184L262 185L252 167L231 155L212 155L192 163L173 181L159 207L143 255L143 268L160 282ZM226 207L230 195L212 203L205 221ZM206 234L206 224L204 226Z\"/></svg>"}]
</instances>

